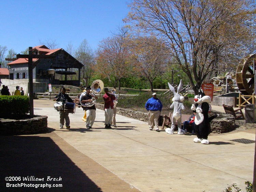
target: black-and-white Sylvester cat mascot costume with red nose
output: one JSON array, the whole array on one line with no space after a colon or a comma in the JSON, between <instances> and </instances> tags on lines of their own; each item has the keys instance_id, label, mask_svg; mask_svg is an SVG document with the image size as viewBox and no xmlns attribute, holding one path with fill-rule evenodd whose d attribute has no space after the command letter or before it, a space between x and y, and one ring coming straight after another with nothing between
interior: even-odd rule
<instances>
[{"instance_id":1,"label":"black-and-white Sylvester cat mascot costume with red nose","mask_svg":"<svg viewBox=\"0 0 256 192\"><path fill-rule=\"evenodd\" d=\"M214 115L208 117L208 113L211 110L211 98L204 95L203 90L199 90L198 95L195 96L194 103L191 106L192 110L196 110L195 116L195 131L197 138L194 138L195 143L209 144L208 135L210 130L210 121L217 117Z\"/></svg>"}]
</instances>

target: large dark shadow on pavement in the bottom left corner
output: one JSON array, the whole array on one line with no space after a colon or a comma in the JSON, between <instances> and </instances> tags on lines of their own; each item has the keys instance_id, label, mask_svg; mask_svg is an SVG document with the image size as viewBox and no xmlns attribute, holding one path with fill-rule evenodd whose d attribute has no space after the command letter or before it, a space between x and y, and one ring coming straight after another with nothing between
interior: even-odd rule
<instances>
[{"instance_id":1,"label":"large dark shadow on pavement in the bottom left corner","mask_svg":"<svg viewBox=\"0 0 256 192\"><path fill-rule=\"evenodd\" d=\"M0 136L0 139L0 186L3 191L101 191L50 137ZM21 180L6 181L6 177L20 177ZM23 178L30 181L24 181ZM36 178L44 180L35 181ZM47 178L59 181L47 181ZM47 183L52 184L52 187L8 188L6 183ZM53 188L53 184L62 184L62 187Z\"/></svg>"}]
</instances>

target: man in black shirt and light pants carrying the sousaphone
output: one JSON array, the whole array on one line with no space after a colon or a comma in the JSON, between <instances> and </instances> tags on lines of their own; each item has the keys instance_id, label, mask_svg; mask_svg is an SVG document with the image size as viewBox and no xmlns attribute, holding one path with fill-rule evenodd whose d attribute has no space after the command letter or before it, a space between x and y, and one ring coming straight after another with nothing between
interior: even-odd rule
<instances>
[{"instance_id":1,"label":"man in black shirt and light pants carrying the sousaphone","mask_svg":"<svg viewBox=\"0 0 256 192\"><path fill-rule=\"evenodd\" d=\"M91 88L90 87L86 87L86 94L83 95L83 97L81 98L81 103L87 103L87 102L91 102L92 99L91 98L95 98L98 99L98 97L96 95L91 94ZM91 129L91 127L93 127L95 118L96 118L96 107L95 105L90 106L90 107L84 107L82 106L82 108L86 111L86 121L85 121L85 126L87 129Z\"/></svg>"}]
</instances>

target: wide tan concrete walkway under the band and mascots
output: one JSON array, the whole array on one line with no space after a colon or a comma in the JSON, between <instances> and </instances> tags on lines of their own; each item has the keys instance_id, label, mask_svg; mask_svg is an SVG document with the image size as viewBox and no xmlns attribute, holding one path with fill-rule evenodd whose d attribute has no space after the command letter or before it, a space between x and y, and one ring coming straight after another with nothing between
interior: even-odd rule
<instances>
[{"instance_id":1,"label":"wide tan concrete walkway under the band and mascots","mask_svg":"<svg viewBox=\"0 0 256 192\"><path fill-rule=\"evenodd\" d=\"M237 183L245 191L244 182L253 180L255 143L230 140L244 138L255 141L254 124L244 122L244 129L240 128L240 131L211 133L208 137L210 144L203 145L193 142L195 135L150 131L146 122L120 115L116 115L117 128L104 129L104 111L99 109L96 110L93 129L85 128L85 122L81 120L84 115L82 108L76 108L75 114L69 115L70 130L59 129L59 113L53 104L54 101L34 100L34 114L48 116L49 133L1 137L2 141L14 137L48 138L50 146L57 148L56 153L63 155L58 160L59 164L71 164L67 166L69 172L65 173L65 168L58 164L57 168L42 164L37 172L33 169L29 173L41 173L38 177L62 174L63 187L60 191L219 192L232 183ZM212 110L222 111L223 107L212 106ZM48 145L44 148L54 150ZM52 155L58 159L56 154ZM52 161L52 157L47 158ZM6 157L0 156L0 159ZM6 166L10 165L7 163ZM0 171L8 173L5 169ZM18 168L13 170L17 173L15 169ZM41 171L43 169L45 172Z\"/></svg>"}]
</instances>

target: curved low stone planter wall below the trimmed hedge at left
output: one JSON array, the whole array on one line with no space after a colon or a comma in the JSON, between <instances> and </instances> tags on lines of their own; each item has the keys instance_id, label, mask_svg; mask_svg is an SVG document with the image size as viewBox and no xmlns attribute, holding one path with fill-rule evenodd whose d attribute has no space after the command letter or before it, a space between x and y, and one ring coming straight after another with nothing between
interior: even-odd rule
<instances>
[{"instance_id":1,"label":"curved low stone planter wall below the trimmed hedge at left","mask_svg":"<svg viewBox=\"0 0 256 192\"><path fill-rule=\"evenodd\" d=\"M0 119L0 135L29 135L46 132L47 116L35 115L24 120Z\"/></svg>"}]
</instances>

